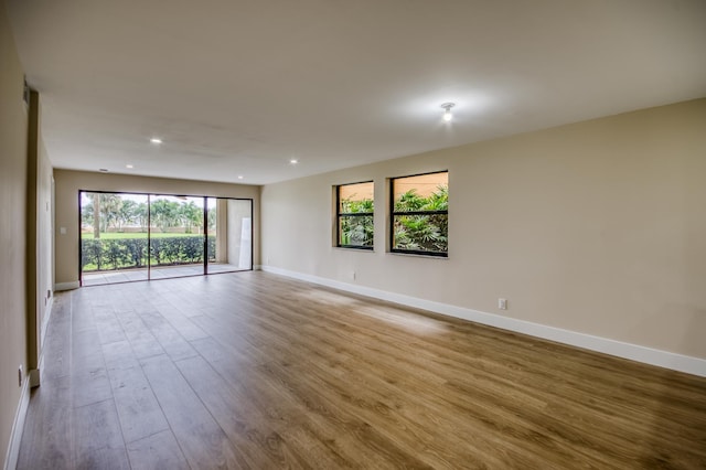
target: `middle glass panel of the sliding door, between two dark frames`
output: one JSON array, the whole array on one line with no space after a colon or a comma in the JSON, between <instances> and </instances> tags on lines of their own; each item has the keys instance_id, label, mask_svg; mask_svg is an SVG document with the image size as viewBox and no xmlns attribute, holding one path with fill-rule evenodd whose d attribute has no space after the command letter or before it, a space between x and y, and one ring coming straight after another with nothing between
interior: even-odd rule
<instances>
[{"instance_id":1,"label":"middle glass panel of the sliding door, between two dark frames","mask_svg":"<svg viewBox=\"0 0 706 470\"><path fill-rule=\"evenodd\" d=\"M150 195L150 279L204 274L204 197Z\"/></svg>"}]
</instances>

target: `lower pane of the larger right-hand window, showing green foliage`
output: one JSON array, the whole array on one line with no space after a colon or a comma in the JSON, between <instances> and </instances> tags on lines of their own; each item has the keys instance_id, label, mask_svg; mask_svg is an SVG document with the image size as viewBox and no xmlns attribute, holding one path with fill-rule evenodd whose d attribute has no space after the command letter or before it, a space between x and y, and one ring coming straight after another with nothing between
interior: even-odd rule
<instances>
[{"instance_id":1,"label":"lower pane of the larger right-hand window, showing green foliage","mask_svg":"<svg viewBox=\"0 0 706 470\"><path fill-rule=\"evenodd\" d=\"M448 252L448 214L394 215L393 249Z\"/></svg>"}]
</instances>

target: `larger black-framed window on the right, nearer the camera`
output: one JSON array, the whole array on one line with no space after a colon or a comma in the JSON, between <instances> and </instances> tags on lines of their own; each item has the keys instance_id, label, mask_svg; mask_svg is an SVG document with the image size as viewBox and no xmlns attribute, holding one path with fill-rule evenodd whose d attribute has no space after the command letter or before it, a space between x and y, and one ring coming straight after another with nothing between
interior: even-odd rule
<instances>
[{"instance_id":1,"label":"larger black-framed window on the right, nearer the camera","mask_svg":"<svg viewBox=\"0 0 706 470\"><path fill-rule=\"evenodd\" d=\"M449 172L392 180L391 252L448 256Z\"/></svg>"}]
</instances>

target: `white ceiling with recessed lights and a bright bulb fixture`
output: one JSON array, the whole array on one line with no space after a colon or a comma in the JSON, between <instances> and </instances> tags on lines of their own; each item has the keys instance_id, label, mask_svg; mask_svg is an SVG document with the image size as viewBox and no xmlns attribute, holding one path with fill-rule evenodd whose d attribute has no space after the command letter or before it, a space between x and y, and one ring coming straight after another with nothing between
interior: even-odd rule
<instances>
[{"instance_id":1,"label":"white ceiling with recessed lights and a bright bulb fixture","mask_svg":"<svg viewBox=\"0 0 706 470\"><path fill-rule=\"evenodd\" d=\"M56 168L265 184L706 96L704 0L7 7Z\"/></svg>"}]
</instances>

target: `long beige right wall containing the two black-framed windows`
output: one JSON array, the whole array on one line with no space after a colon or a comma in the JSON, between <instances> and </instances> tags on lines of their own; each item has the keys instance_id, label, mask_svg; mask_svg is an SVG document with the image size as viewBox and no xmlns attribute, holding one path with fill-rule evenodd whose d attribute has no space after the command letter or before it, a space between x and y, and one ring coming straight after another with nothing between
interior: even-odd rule
<instances>
[{"instance_id":1,"label":"long beige right wall containing the two black-framed windows","mask_svg":"<svg viewBox=\"0 0 706 470\"><path fill-rule=\"evenodd\" d=\"M269 184L263 265L706 359L704 129L699 99ZM387 179L438 170L448 259L386 253ZM368 180L375 252L333 247Z\"/></svg>"}]
</instances>

